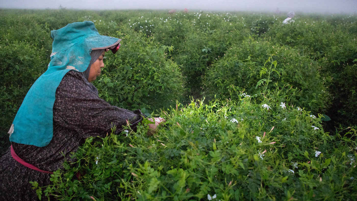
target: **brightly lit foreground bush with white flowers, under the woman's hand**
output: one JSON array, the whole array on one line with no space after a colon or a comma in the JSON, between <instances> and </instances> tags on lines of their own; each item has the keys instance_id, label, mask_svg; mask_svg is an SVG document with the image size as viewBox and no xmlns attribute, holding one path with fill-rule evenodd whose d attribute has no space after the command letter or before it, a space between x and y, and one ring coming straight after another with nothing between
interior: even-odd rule
<instances>
[{"instance_id":1,"label":"brightly lit foreground bush with white flowers, under the woman's hand","mask_svg":"<svg viewBox=\"0 0 357 201\"><path fill-rule=\"evenodd\" d=\"M42 189L63 200L356 199L356 128L330 136L321 116L268 95L178 104L152 137L144 122L127 137L90 138Z\"/></svg>"}]
</instances>

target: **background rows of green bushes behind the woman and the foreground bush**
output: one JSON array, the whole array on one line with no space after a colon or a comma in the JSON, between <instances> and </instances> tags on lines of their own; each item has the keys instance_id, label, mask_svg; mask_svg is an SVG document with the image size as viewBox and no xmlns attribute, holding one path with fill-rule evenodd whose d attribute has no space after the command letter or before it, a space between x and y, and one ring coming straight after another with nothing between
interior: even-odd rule
<instances>
[{"instance_id":1,"label":"background rows of green bushes behind the woman and the foreground bush","mask_svg":"<svg viewBox=\"0 0 357 201\"><path fill-rule=\"evenodd\" d=\"M124 39L120 54L107 55L105 73L95 82L100 96L112 105L153 111L175 100L188 102L192 95L225 99L233 88L258 94L257 83L267 82L270 90L299 90L300 96L289 104L335 117L333 126L356 125L355 114L349 112L357 107L356 17L343 22L301 16L283 26L284 18L201 11L2 10L2 147L8 143L5 128L26 91L46 70L50 30L83 20L94 21L101 34ZM260 75L268 54L274 54L278 65Z\"/></svg>"}]
</instances>

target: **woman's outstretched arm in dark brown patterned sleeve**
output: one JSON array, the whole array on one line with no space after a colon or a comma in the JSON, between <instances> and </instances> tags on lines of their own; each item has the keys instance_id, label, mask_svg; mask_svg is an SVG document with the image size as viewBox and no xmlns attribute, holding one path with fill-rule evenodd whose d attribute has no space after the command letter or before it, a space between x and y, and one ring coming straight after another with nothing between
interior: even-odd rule
<instances>
[{"instance_id":1,"label":"woman's outstretched arm in dark brown patterned sleeve","mask_svg":"<svg viewBox=\"0 0 357 201\"><path fill-rule=\"evenodd\" d=\"M58 125L76 130L83 137L105 136L113 126L115 133L119 133L127 121L135 129L144 116L140 110L111 106L100 99L74 71L69 71L57 88L53 111Z\"/></svg>"}]
</instances>

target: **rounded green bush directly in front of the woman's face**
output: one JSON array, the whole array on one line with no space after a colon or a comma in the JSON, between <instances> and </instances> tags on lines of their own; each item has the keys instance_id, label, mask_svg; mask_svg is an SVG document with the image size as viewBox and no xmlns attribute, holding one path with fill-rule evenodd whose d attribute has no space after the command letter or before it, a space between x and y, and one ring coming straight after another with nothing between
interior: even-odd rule
<instances>
[{"instance_id":1,"label":"rounded green bush directly in front of the woman's face","mask_svg":"<svg viewBox=\"0 0 357 201\"><path fill-rule=\"evenodd\" d=\"M114 37L123 39L122 47L119 54L107 55L104 74L95 82L99 96L127 109L174 106L183 95L183 78L165 56L173 47L160 47L152 37L128 29Z\"/></svg>"}]
</instances>

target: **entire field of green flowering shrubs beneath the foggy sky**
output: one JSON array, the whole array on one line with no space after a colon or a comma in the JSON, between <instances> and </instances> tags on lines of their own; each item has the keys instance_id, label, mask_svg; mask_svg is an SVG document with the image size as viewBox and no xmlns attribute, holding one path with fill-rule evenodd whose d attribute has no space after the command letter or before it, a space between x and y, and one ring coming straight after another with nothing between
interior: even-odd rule
<instances>
[{"instance_id":1,"label":"entire field of green flowering shrubs beneath the foggy sky","mask_svg":"<svg viewBox=\"0 0 357 201\"><path fill-rule=\"evenodd\" d=\"M39 197L356 200L357 16L160 10L0 10L0 154L50 30L93 21L122 39L99 96L167 121L92 137ZM84 174L80 179L76 173Z\"/></svg>"}]
</instances>

